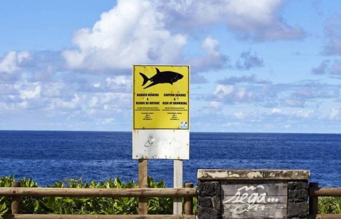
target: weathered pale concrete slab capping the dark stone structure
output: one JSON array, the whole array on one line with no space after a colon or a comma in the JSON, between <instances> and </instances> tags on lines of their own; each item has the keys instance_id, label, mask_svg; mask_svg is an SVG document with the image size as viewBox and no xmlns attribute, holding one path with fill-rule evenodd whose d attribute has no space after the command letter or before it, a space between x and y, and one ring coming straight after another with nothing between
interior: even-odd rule
<instances>
[{"instance_id":1,"label":"weathered pale concrete slab capping the dark stone structure","mask_svg":"<svg viewBox=\"0 0 341 219\"><path fill-rule=\"evenodd\" d=\"M308 180L302 169L198 169L198 180Z\"/></svg>"}]
</instances>

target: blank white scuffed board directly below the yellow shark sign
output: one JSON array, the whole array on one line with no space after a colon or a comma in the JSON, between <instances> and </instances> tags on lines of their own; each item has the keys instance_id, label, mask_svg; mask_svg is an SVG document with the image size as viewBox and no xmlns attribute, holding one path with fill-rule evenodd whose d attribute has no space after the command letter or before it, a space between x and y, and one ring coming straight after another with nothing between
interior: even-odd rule
<instances>
[{"instance_id":1,"label":"blank white scuffed board directly below the yellow shark sign","mask_svg":"<svg viewBox=\"0 0 341 219\"><path fill-rule=\"evenodd\" d=\"M133 159L189 159L189 130L133 130Z\"/></svg>"}]
</instances>

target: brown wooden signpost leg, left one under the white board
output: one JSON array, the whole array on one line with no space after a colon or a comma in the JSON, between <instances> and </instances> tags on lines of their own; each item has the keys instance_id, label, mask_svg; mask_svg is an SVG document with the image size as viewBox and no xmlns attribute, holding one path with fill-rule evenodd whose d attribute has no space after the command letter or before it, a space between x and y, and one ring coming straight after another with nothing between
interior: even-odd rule
<instances>
[{"instance_id":1,"label":"brown wooden signpost leg, left one under the white board","mask_svg":"<svg viewBox=\"0 0 341 219\"><path fill-rule=\"evenodd\" d=\"M138 187L139 188L148 187L148 160L147 159L138 160ZM148 198L138 199L138 214L139 215L148 214Z\"/></svg>"}]
</instances>

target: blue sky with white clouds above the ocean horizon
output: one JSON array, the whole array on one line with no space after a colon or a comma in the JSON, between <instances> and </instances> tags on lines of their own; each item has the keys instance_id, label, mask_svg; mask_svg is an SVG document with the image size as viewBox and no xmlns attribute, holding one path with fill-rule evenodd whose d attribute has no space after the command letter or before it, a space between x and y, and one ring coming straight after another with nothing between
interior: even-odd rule
<instances>
[{"instance_id":1,"label":"blue sky with white clouds above the ocean horizon","mask_svg":"<svg viewBox=\"0 0 341 219\"><path fill-rule=\"evenodd\" d=\"M340 133L340 8L4 0L0 129L129 131L132 65L189 64L192 131Z\"/></svg>"}]
</instances>

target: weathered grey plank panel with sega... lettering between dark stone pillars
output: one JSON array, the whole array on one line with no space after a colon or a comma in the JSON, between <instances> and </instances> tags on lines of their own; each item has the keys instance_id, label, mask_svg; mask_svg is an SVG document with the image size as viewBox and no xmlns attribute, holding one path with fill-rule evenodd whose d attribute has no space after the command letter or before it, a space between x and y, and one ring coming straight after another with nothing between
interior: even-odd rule
<instances>
[{"instance_id":1,"label":"weathered grey plank panel with sega... lettering between dark stone pillars","mask_svg":"<svg viewBox=\"0 0 341 219\"><path fill-rule=\"evenodd\" d=\"M286 218L286 181L222 181L220 192L223 218Z\"/></svg>"}]
</instances>

